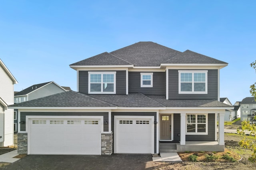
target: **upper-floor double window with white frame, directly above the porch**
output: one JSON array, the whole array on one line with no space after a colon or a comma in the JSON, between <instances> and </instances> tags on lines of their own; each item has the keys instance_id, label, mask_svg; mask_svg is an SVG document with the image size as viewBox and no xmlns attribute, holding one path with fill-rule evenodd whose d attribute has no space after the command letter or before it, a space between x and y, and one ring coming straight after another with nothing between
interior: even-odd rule
<instances>
[{"instance_id":1,"label":"upper-floor double window with white frame, directly above the porch","mask_svg":"<svg viewBox=\"0 0 256 170\"><path fill-rule=\"evenodd\" d=\"M208 70L179 70L179 94L207 94Z\"/></svg>"}]
</instances>

